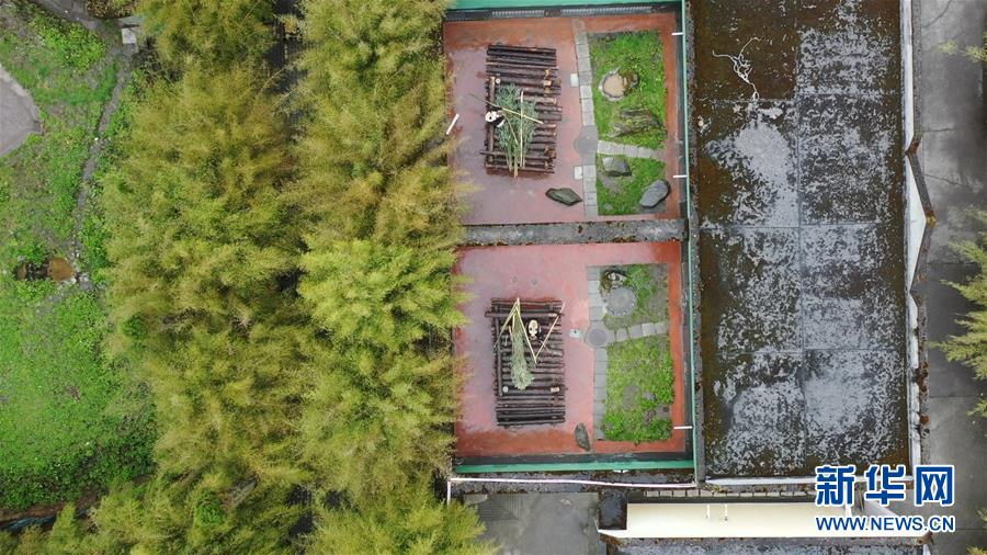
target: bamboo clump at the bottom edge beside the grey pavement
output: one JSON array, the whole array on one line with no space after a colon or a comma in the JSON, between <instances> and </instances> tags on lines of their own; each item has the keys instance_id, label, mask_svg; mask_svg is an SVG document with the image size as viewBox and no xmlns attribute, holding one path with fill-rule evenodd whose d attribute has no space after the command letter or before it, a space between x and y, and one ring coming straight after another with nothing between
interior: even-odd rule
<instances>
[{"instance_id":1,"label":"bamboo clump at the bottom edge beside the grey pavement","mask_svg":"<svg viewBox=\"0 0 987 555\"><path fill-rule=\"evenodd\" d=\"M480 555L492 551L491 545L474 541L484 530L476 512L436 501L422 485L363 510L322 510L317 524L308 539L309 553Z\"/></svg>"}]
</instances>

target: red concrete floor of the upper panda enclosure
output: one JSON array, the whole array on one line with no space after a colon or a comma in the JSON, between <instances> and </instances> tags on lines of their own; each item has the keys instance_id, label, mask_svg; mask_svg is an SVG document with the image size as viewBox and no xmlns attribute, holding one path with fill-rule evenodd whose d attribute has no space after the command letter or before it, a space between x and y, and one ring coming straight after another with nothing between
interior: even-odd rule
<instances>
[{"instance_id":1,"label":"red concrete floor of the upper panda enclosure","mask_svg":"<svg viewBox=\"0 0 987 555\"><path fill-rule=\"evenodd\" d=\"M620 31L658 30L662 39L665 72L667 76L666 118L671 122L666 139L666 173L684 173L679 165L678 97L676 31L677 15L655 13L644 15L545 18L495 21L449 22L443 27L443 45L446 53L446 83L450 98L450 118L460 114L453 135L457 140L451 156L451 165L461 172L465 183L473 188L467 194L469 209L463 220L467 225L479 224L533 224L546 222L582 222L586 211L582 204L564 206L545 196L551 188L571 188L583 194L582 181L574 175L581 165L575 143L582 129L579 89L569 84L569 75L577 72L576 36L574 24L586 24L589 34ZM503 43L519 46L554 47L557 49L559 77L563 81L563 121L558 127L558 158L555 173L525 174L513 179L506 173L488 173L484 167L484 112L485 104L470 97L484 98L486 48ZM681 192L672 186L663 214L639 216L601 216L597 219L678 218Z\"/></svg>"}]
</instances>

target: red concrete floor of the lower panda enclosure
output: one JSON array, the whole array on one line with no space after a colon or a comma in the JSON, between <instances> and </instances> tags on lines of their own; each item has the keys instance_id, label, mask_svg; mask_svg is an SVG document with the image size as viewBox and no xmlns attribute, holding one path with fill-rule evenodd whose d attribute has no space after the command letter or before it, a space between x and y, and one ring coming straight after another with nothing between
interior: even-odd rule
<instances>
[{"instance_id":1,"label":"red concrete floor of the lower panda enclosure","mask_svg":"<svg viewBox=\"0 0 987 555\"><path fill-rule=\"evenodd\" d=\"M469 276L469 301L461 309L469 324L456 329L456 354L465 356L456 420L458 456L586 453L576 445L576 426L593 430L593 350L569 330L589 326L587 268L609 264L668 264L669 339L676 373L672 424L685 422L682 360L682 286L678 242L480 247L460 251L455 273ZM566 421L560 424L501 428L494 415L494 355L490 320L484 316L491 298L547 299L566 303L559 321L565 338ZM665 441L593 441L594 453L682 452L685 431Z\"/></svg>"}]
</instances>

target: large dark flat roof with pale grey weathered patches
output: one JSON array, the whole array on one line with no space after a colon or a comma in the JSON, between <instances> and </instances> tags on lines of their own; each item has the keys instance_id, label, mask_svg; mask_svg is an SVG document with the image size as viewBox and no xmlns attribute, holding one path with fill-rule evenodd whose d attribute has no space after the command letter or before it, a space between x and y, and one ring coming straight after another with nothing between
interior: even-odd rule
<instances>
[{"instance_id":1,"label":"large dark flat roof with pale grey weathered patches","mask_svg":"<svg viewBox=\"0 0 987 555\"><path fill-rule=\"evenodd\" d=\"M906 463L898 3L693 10L707 475Z\"/></svg>"}]
</instances>

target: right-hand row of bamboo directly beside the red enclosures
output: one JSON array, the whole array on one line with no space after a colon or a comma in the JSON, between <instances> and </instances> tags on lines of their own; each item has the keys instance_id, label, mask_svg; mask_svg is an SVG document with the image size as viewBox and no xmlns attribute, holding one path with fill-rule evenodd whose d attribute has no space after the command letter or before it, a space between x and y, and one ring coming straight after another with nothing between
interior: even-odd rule
<instances>
[{"instance_id":1,"label":"right-hand row of bamboo directly beside the red enclosures","mask_svg":"<svg viewBox=\"0 0 987 555\"><path fill-rule=\"evenodd\" d=\"M300 432L324 512L314 553L475 553L476 517L420 484L447 468L456 380L447 330L460 235L445 166L436 37L446 3L308 0L295 105L293 200L305 218L299 293L311 338Z\"/></svg>"}]
</instances>

